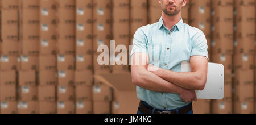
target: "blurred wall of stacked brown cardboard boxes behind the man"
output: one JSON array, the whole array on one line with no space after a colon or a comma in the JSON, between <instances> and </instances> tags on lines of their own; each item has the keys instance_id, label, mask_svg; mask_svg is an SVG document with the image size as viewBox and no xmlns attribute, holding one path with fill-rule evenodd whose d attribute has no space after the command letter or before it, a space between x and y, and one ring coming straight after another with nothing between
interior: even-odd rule
<instances>
[{"instance_id":1,"label":"blurred wall of stacked brown cardboard boxes behind the man","mask_svg":"<svg viewBox=\"0 0 256 125\"><path fill-rule=\"evenodd\" d=\"M112 85L93 78L129 73L128 65L98 65L97 47L115 40L129 48L139 27L160 19L158 0L0 0L0 6L1 114L134 110L120 105L135 93L125 79L116 76L121 81ZM210 62L225 66L224 99L199 100L195 113L256 113L255 0L188 0L182 18L207 36Z\"/></svg>"}]
</instances>

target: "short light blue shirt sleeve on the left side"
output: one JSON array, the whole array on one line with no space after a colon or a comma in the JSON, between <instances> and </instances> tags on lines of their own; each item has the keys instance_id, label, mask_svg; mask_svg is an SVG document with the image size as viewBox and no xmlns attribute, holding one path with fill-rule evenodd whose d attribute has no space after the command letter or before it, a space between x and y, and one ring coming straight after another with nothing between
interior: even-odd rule
<instances>
[{"instance_id":1,"label":"short light blue shirt sleeve on the left side","mask_svg":"<svg viewBox=\"0 0 256 125\"><path fill-rule=\"evenodd\" d=\"M131 50L130 56L137 52L148 53L147 37L141 28L139 28L134 34L133 49Z\"/></svg>"}]
</instances>

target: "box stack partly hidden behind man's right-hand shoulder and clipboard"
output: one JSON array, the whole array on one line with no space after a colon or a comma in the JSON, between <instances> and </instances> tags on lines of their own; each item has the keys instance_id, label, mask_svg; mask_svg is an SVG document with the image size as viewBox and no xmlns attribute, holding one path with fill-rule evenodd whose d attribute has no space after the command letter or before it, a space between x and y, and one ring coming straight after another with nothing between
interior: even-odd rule
<instances>
[{"instance_id":1,"label":"box stack partly hidden behind man's right-hand shoulder and clipboard","mask_svg":"<svg viewBox=\"0 0 256 125\"><path fill-rule=\"evenodd\" d=\"M208 55L210 55L210 0L190 1L189 24L199 28L207 38ZM210 56L209 56L210 58ZM201 104L199 104L201 103ZM202 109L203 107L203 109ZM210 100L199 100L194 103L195 113L210 113Z\"/></svg>"}]
</instances>

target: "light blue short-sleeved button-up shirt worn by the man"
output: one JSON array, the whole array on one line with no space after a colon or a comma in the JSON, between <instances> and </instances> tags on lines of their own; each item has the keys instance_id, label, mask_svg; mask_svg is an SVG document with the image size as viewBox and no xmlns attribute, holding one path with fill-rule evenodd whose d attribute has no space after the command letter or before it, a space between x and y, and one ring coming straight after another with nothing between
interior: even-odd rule
<instances>
[{"instance_id":1,"label":"light blue short-sleeved button-up shirt worn by the man","mask_svg":"<svg viewBox=\"0 0 256 125\"><path fill-rule=\"evenodd\" d=\"M131 55L148 53L149 63L162 69L181 72L181 62L190 61L191 56L205 56L208 59L207 39L204 33L181 18L168 30L162 18L159 22L139 28L134 34ZM159 93L137 86L137 97L156 109L173 110L188 105L179 94Z\"/></svg>"}]
</instances>

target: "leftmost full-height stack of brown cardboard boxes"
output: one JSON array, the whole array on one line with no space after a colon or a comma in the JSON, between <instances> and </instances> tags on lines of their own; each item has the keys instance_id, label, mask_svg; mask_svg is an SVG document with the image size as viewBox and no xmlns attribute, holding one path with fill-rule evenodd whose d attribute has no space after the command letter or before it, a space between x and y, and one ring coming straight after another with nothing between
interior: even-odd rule
<instances>
[{"instance_id":1,"label":"leftmost full-height stack of brown cardboard boxes","mask_svg":"<svg viewBox=\"0 0 256 125\"><path fill-rule=\"evenodd\" d=\"M0 62L0 101L1 113L17 113L19 3L0 1L1 5L1 62ZM4 31L4 32L3 32Z\"/></svg>"}]
</instances>

